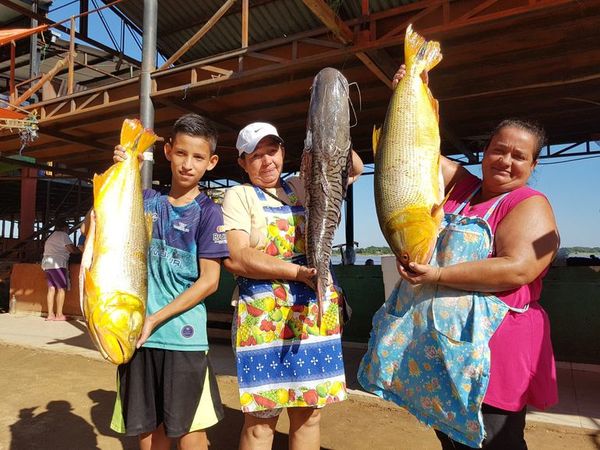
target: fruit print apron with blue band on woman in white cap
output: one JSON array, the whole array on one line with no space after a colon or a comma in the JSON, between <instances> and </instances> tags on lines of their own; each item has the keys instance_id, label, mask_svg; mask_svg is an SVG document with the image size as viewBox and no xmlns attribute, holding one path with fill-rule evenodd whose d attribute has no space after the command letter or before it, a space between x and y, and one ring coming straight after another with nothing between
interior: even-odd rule
<instances>
[{"instance_id":1,"label":"fruit print apron with blue band on woman in white cap","mask_svg":"<svg viewBox=\"0 0 600 450\"><path fill-rule=\"evenodd\" d=\"M285 182L292 206L273 207L255 187L267 220L265 253L306 264L304 207ZM304 283L238 277L236 362L242 411L308 406L345 400L339 322L340 297L330 288L317 325L316 293Z\"/></svg>"}]
</instances>

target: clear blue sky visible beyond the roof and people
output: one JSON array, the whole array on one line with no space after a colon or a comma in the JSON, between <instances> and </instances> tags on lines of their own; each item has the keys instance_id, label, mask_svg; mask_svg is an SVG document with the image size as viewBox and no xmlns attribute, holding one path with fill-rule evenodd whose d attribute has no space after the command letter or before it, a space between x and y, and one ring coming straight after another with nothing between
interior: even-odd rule
<instances>
[{"instance_id":1,"label":"clear blue sky visible beyond the roof and people","mask_svg":"<svg viewBox=\"0 0 600 450\"><path fill-rule=\"evenodd\" d=\"M71 4L69 5L69 3ZM102 5L99 1L97 3ZM50 18L59 21L72 14L77 14L78 4L79 2L55 0L54 12L50 13ZM61 5L67 6L57 10L56 8ZM93 8L92 4L90 4L90 8ZM103 10L103 13L116 34L117 42L120 42L119 20L109 10ZM90 36L94 39L112 46L98 14L90 15L89 29ZM68 39L64 33L63 37ZM140 58L141 54L128 32L125 35L125 53L135 58ZM162 60L164 59L159 58L159 63ZM598 143L594 143L592 148L598 150L600 147ZM469 170L476 175L481 175L480 166L470 166ZM370 169L367 167L365 171L372 172L372 167ZM543 192L550 200L558 222L563 247L600 246L599 157L588 159L564 157L540 160L529 184ZM355 184L354 199L355 240L361 247L386 245L377 222L372 175L361 177ZM334 243L342 242L345 242L344 220L342 220Z\"/></svg>"}]
</instances>

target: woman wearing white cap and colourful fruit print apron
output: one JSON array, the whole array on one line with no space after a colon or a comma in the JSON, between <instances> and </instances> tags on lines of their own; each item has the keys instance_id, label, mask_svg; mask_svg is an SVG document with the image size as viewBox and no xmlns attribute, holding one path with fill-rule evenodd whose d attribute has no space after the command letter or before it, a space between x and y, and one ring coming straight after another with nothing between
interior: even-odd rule
<instances>
[{"instance_id":1,"label":"woman wearing white cap and colourful fruit print apron","mask_svg":"<svg viewBox=\"0 0 600 450\"><path fill-rule=\"evenodd\" d=\"M256 122L236 143L249 184L229 189L223 202L239 301L234 327L244 428L240 449L269 449L283 408L290 418L290 449L320 448L319 408L346 399L335 288L318 306L316 270L306 267L304 185L283 180L285 150L277 129ZM350 182L363 165L352 152ZM335 314L334 314L335 312Z\"/></svg>"}]
</instances>

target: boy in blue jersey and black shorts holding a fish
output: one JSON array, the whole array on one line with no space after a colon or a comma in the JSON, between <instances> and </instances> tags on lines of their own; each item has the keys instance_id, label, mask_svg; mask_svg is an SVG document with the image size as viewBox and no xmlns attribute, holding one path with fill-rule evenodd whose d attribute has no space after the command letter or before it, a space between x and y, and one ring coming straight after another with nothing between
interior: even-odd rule
<instances>
[{"instance_id":1,"label":"boy in blue jersey and black shorts holding a fish","mask_svg":"<svg viewBox=\"0 0 600 450\"><path fill-rule=\"evenodd\" d=\"M171 163L167 195L144 191L153 217L148 304L138 350L118 368L111 428L137 435L140 449L206 449L206 428L223 418L208 360L206 308L228 256L221 208L198 188L218 162L217 130L196 114L180 117L164 153ZM120 146L114 161L126 157Z\"/></svg>"}]
</instances>

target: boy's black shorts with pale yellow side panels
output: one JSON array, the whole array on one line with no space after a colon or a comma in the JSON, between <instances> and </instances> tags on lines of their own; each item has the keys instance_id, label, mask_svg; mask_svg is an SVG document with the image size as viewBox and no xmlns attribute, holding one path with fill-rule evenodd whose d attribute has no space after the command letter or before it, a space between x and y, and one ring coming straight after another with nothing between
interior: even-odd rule
<instances>
[{"instance_id":1,"label":"boy's black shorts with pale yellow side panels","mask_svg":"<svg viewBox=\"0 0 600 450\"><path fill-rule=\"evenodd\" d=\"M217 380L206 352L142 347L117 369L111 428L127 436L154 431L169 437L204 430L223 418Z\"/></svg>"}]
</instances>

